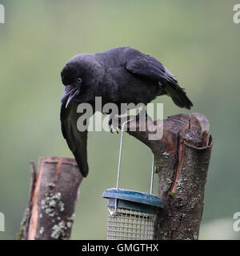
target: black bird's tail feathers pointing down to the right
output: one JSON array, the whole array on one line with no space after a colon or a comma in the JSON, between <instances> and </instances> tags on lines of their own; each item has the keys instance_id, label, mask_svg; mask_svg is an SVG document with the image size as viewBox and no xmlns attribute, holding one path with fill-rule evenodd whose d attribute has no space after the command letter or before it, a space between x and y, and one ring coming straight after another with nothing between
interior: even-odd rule
<instances>
[{"instance_id":1,"label":"black bird's tail feathers pointing down to the right","mask_svg":"<svg viewBox=\"0 0 240 256\"><path fill-rule=\"evenodd\" d=\"M174 78L167 78L165 81L161 81L161 83L163 84L166 93L173 99L177 106L190 110L193 103L187 98L184 89L178 86L177 80Z\"/></svg>"}]
</instances>

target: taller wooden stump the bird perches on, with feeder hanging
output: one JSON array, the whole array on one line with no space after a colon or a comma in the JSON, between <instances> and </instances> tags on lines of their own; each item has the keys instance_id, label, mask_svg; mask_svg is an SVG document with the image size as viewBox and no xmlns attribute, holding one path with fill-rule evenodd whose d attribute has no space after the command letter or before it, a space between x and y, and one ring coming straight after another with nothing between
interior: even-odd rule
<instances>
[{"instance_id":1,"label":"taller wooden stump the bird perches on, with feeder hanging","mask_svg":"<svg viewBox=\"0 0 240 256\"><path fill-rule=\"evenodd\" d=\"M162 138L149 140L154 126L163 126ZM213 145L209 122L202 114L177 114L163 122L149 122L146 131L139 131L138 123L134 128L129 123L129 127L135 131L126 131L154 154L158 196L164 202L164 208L158 211L154 238L198 239Z\"/></svg>"}]
</instances>

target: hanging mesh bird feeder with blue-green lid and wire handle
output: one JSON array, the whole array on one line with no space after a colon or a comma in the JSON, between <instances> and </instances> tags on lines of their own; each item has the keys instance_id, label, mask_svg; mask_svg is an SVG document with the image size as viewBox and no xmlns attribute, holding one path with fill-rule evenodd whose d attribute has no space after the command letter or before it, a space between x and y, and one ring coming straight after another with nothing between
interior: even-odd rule
<instances>
[{"instance_id":1,"label":"hanging mesh bird feeder with blue-green lid and wire handle","mask_svg":"<svg viewBox=\"0 0 240 256\"><path fill-rule=\"evenodd\" d=\"M116 188L105 190L102 194L103 198L108 199L107 206L109 217L107 239L153 240L156 213L159 208L163 207L162 200L153 194L154 158L152 163L150 194L119 188L122 141L126 122L122 124L117 186Z\"/></svg>"}]
</instances>

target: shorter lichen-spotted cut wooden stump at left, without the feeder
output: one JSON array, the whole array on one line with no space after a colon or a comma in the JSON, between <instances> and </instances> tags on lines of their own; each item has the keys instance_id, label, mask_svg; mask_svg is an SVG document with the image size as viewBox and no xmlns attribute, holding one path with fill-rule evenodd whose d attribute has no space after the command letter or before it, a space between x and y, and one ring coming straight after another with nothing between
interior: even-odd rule
<instances>
[{"instance_id":1,"label":"shorter lichen-spotted cut wooden stump at left, without the feeder","mask_svg":"<svg viewBox=\"0 0 240 256\"><path fill-rule=\"evenodd\" d=\"M31 162L30 199L22 221L22 240L69 239L78 187L82 181L73 158L39 158Z\"/></svg>"}]
</instances>

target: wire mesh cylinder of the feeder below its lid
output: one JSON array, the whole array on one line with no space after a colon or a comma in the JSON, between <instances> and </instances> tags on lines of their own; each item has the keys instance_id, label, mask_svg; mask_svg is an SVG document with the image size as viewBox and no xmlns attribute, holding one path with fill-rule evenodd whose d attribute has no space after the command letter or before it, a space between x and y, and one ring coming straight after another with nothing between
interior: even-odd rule
<instances>
[{"instance_id":1,"label":"wire mesh cylinder of the feeder below its lid","mask_svg":"<svg viewBox=\"0 0 240 256\"><path fill-rule=\"evenodd\" d=\"M108 240L153 240L155 214L109 206Z\"/></svg>"}]
</instances>

